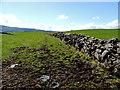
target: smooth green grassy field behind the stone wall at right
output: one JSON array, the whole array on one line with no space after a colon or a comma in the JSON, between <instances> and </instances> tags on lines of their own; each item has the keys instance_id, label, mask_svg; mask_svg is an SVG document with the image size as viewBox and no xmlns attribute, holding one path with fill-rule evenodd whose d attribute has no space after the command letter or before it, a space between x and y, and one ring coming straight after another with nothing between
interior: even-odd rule
<instances>
[{"instance_id":1,"label":"smooth green grassy field behind the stone wall at right","mask_svg":"<svg viewBox=\"0 0 120 90\"><path fill-rule=\"evenodd\" d=\"M118 29L88 29L88 30L72 30L66 33L84 34L99 39L119 38ZM120 38L119 38L120 39Z\"/></svg>"}]
</instances>

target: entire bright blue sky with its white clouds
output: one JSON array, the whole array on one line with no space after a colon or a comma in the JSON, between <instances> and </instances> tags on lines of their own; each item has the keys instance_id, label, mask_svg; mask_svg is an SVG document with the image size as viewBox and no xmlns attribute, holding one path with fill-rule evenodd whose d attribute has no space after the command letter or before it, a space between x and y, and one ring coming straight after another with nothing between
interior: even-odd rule
<instances>
[{"instance_id":1,"label":"entire bright blue sky with its white clouds","mask_svg":"<svg viewBox=\"0 0 120 90\"><path fill-rule=\"evenodd\" d=\"M118 2L2 2L0 25L53 31L117 28Z\"/></svg>"}]
</instances>

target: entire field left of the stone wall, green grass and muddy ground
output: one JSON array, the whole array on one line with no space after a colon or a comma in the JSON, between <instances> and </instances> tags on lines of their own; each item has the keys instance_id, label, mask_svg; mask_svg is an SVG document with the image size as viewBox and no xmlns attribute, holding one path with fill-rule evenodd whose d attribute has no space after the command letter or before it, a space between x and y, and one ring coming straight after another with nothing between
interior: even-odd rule
<instances>
[{"instance_id":1,"label":"entire field left of the stone wall, green grass and muddy ground","mask_svg":"<svg viewBox=\"0 0 120 90\"><path fill-rule=\"evenodd\" d=\"M60 88L119 86L120 79L111 76L97 60L46 33L2 34L5 87L52 88L53 82L59 83ZM10 68L13 64L18 65ZM41 81L42 75L50 75L51 80Z\"/></svg>"}]
</instances>

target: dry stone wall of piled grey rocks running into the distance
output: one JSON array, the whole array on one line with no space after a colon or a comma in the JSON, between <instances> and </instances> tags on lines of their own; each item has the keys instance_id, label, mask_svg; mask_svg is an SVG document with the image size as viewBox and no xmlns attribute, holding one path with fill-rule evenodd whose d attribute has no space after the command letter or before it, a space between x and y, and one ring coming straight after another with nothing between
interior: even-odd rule
<instances>
[{"instance_id":1,"label":"dry stone wall of piled grey rocks running into the distance","mask_svg":"<svg viewBox=\"0 0 120 90\"><path fill-rule=\"evenodd\" d=\"M67 44L103 63L104 67L120 76L120 41L117 38L97 39L83 34L53 33Z\"/></svg>"}]
</instances>

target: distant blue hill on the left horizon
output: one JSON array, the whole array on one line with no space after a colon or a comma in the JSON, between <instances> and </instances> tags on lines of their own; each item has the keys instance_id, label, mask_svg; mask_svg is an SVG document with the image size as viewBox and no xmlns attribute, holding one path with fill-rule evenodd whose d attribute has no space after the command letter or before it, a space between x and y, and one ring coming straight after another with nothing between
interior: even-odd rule
<instances>
[{"instance_id":1,"label":"distant blue hill on the left horizon","mask_svg":"<svg viewBox=\"0 0 120 90\"><path fill-rule=\"evenodd\" d=\"M25 31L46 31L33 28L18 28L0 25L0 32L25 32Z\"/></svg>"}]
</instances>

